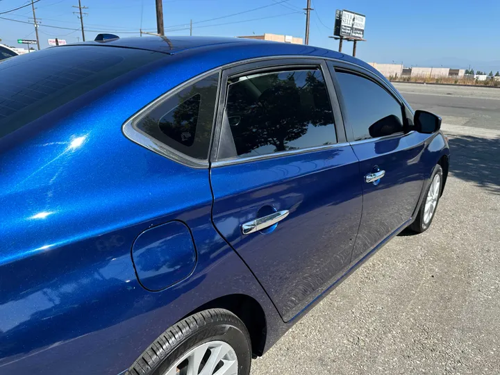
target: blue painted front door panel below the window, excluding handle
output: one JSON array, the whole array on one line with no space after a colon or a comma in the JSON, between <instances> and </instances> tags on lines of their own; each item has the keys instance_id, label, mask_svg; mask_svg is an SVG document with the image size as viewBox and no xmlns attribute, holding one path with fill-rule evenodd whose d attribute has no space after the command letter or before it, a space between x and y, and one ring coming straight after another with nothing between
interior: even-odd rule
<instances>
[{"instance_id":1,"label":"blue painted front door panel below the window, excluding handle","mask_svg":"<svg viewBox=\"0 0 500 375\"><path fill-rule=\"evenodd\" d=\"M422 192L425 167L421 162L429 135L411 132L395 138L353 144L363 181L363 217L351 264L371 251L406 222ZM385 171L380 183L366 183L374 167Z\"/></svg>"}]
</instances>

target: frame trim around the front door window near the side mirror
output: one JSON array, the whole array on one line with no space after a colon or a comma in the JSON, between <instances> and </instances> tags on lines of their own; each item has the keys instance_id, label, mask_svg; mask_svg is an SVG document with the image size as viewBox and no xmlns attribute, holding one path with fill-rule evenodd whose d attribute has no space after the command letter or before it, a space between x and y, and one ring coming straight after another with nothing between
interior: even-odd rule
<instances>
[{"instance_id":1,"label":"frame trim around the front door window near the side mirror","mask_svg":"<svg viewBox=\"0 0 500 375\"><path fill-rule=\"evenodd\" d=\"M392 99L394 99L395 101L397 101L397 103L399 103L399 106L401 108L401 118L403 119L403 129L408 129L408 119L406 118L406 108L407 108L406 101L404 101L404 99L401 98L399 93L394 91L394 89L391 88L390 85L387 85L387 83L383 82L378 76L376 76L376 74L370 72L365 67L360 67L355 64L347 63L345 61L342 62L339 62L337 60L330 60L330 61L331 61L331 69L330 67L328 67L328 70L330 71L332 81L338 92L338 101L340 108L342 110L342 118L344 119L344 128L346 134L349 133L349 135L347 136L349 144L376 142L378 140L404 137L410 133L413 133L412 130L411 131L403 130L390 135L383 135L382 137L367 138L365 140L355 140L353 128L349 123L349 113L347 112L347 106L345 105L344 96L340 88L340 83L337 78L337 73L346 73L346 74L353 74L355 76L360 76L369 81L372 81L373 83L378 85L382 90L385 90L385 92L387 92L387 94L389 94L392 97Z\"/></svg>"}]
</instances>

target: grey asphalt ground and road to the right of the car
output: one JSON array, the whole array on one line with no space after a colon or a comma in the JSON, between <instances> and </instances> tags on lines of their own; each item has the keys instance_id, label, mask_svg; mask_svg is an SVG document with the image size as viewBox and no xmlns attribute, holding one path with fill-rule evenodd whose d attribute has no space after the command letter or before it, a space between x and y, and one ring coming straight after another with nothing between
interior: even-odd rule
<instances>
[{"instance_id":1,"label":"grey asphalt ground and road to the right of the car","mask_svg":"<svg viewBox=\"0 0 500 375\"><path fill-rule=\"evenodd\" d=\"M390 241L252 375L500 374L500 90L398 86L415 109L462 118L443 126L451 170L431 228Z\"/></svg>"}]
</instances>

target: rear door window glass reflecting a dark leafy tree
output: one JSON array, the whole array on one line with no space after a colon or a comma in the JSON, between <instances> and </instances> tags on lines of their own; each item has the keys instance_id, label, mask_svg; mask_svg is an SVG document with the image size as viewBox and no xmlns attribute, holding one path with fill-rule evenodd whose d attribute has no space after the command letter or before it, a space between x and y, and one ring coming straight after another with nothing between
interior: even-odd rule
<instances>
[{"instance_id":1,"label":"rear door window glass reflecting a dark leafy tree","mask_svg":"<svg viewBox=\"0 0 500 375\"><path fill-rule=\"evenodd\" d=\"M319 69L240 76L229 81L226 115L238 156L337 142Z\"/></svg>"}]
</instances>

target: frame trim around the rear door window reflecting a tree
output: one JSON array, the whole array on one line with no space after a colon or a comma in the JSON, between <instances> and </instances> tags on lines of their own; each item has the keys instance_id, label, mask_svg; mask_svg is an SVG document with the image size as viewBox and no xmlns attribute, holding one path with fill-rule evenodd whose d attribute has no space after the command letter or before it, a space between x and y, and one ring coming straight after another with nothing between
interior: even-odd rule
<instances>
[{"instance_id":1,"label":"frame trim around the rear door window reflecting a tree","mask_svg":"<svg viewBox=\"0 0 500 375\"><path fill-rule=\"evenodd\" d=\"M288 70L288 69L307 69L307 68L319 69L319 71L322 72L323 74L326 85L326 91L328 94L328 99L330 101L332 108L333 121L335 126L335 136L337 138L337 142L335 144L319 145L317 147L308 147L306 149L281 151L259 156L247 156L244 158L218 160L217 156L222 146L221 142L223 133L222 126L223 126L224 109L226 107L226 99L228 92L228 79L248 74L272 72L275 69L279 71L280 69ZM267 58L259 58L254 62L251 61L242 62L239 65L236 65L234 67L227 67L226 69L223 70L221 83L219 85L219 103L217 106L217 121L215 125L215 134L213 136L212 152L210 153L210 164L212 167L220 167L222 165L232 165L232 164L247 163L256 160L278 158L281 156L288 156L288 155L306 153L311 151L334 149L346 145L348 145L348 143L346 142L344 123L342 121L342 115L340 113L340 106L337 101L337 94L335 93L335 86L333 85L333 81L331 81L330 72L328 71L328 67L326 65L326 61L324 60L324 58L310 58L307 56L301 58L297 58L297 56L270 56Z\"/></svg>"}]
</instances>

